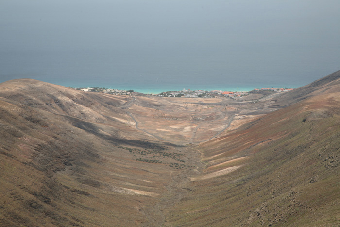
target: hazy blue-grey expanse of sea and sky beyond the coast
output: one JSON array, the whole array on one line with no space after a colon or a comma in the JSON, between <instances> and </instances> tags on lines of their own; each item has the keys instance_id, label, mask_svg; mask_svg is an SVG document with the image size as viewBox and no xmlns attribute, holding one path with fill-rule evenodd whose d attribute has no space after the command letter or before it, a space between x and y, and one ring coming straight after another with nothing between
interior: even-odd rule
<instances>
[{"instance_id":1,"label":"hazy blue-grey expanse of sea and sky beyond the coast","mask_svg":"<svg viewBox=\"0 0 340 227\"><path fill-rule=\"evenodd\" d=\"M339 0L1 0L0 82L304 85L340 70L339 9Z\"/></svg>"}]
</instances>

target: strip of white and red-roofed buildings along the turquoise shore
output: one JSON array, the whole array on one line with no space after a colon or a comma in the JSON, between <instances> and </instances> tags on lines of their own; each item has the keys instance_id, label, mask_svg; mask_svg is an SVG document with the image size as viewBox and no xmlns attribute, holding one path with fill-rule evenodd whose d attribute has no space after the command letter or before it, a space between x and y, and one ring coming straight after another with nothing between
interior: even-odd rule
<instances>
[{"instance_id":1,"label":"strip of white and red-roofed buildings along the turquoise shore","mask_svg":"<svg viewBox=\"0 0 340 227\"><path fill-rule=\"evenodd\" d=\"M139 95L139 96L161 96L161 97L183 97L183 98L215 98L215 97L229 97L231 99L238 99L241 97L248 96L250 94L263 93L263 92L287 92L293 90L293 88L261 88L254 89L251 91L223 91L223 90L191 90L191 89L183 89L180 91L166 91L159 94L143 94L139 92L135 92L134 90L119 90L119 89L108 89L104 87L81 87L81 88L73 88L82 91L89 92L102 92L106 94L113 95Z\"/></svg>"}]
</instances>

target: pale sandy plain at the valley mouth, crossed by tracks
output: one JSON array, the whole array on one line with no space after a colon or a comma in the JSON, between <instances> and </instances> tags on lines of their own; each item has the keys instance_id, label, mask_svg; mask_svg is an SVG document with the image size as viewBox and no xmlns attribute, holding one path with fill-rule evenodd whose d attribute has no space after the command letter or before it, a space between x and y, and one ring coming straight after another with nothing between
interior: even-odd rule
<instances>
[{"instance_id":1,"label":"pale sandy plain at the valley mouth, crossed by tracks","mask_svg":"<svg viewBox=\"0 0 340 227\"><path fill-rule=\"evenodd\" d=\"M236 102L226 97L131 97L124 110L136 122L137 129L154 139L185 145L211 140L273 111L274 108L268 108L273 102Z\"/></svg>"}]
</instances>

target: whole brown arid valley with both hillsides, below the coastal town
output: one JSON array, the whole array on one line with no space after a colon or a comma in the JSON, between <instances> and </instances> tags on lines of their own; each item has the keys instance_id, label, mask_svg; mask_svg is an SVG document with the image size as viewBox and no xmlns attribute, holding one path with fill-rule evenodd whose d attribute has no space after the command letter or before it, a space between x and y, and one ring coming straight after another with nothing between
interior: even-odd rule
<instances>
[{"instance_id":1,"label":"whole brown arid valley with both hillsides, below the coastal town","mask_svg":"<svg viewBox=\"0 0 340 227\"><path fill-rule=\"evenodd\" d=\"M0 225L340 226L340 71L256 99L1 83Z\"/></svg>"}]
</instances>

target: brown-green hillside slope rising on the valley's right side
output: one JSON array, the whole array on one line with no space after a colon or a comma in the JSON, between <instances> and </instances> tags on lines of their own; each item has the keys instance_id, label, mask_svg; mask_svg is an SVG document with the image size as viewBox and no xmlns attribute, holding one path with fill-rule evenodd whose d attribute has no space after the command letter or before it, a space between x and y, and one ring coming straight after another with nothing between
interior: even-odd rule
<instances>
[{"instance_id":1,"label":"brown-green hillside slope rising on the valley's right side","mask_svg":"<svg viewBox=\"0 0 340 227\"><path fill-rule=\"evenodd\" d=\"M204 171L167 226L339 226L339 72L287 94L286 103L298 96L201 144Z\"/></svg>"}]
</instances>

